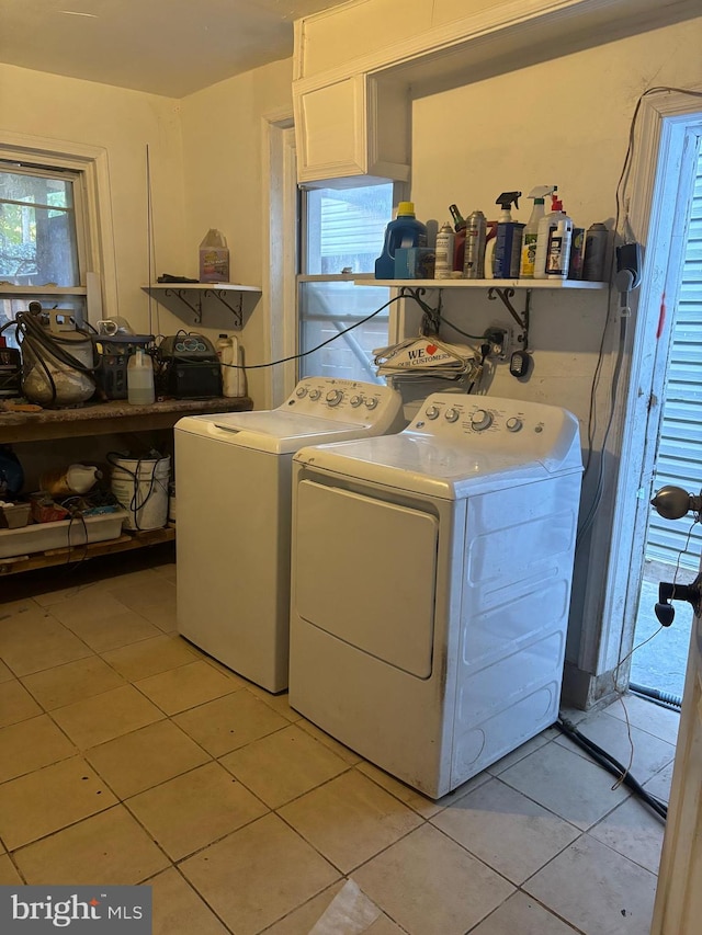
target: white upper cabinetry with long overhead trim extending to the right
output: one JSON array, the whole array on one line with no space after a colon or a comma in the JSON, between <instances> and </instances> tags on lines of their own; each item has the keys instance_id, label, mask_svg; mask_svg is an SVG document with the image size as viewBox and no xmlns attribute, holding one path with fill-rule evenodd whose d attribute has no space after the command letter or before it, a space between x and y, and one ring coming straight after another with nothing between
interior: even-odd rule
<instances>
[{"instance_id":1,"label":"white upper cabinetry with long overhead trim extending to the right","mask_svg":"<svg viewBox=\"0 0 702 935\"><path fill-rule=\"evenodd\" d=\"M297 20L298 181L407 181L412 98L695 15L699 0L356 0Z\"/></svg>"}]
</instances>

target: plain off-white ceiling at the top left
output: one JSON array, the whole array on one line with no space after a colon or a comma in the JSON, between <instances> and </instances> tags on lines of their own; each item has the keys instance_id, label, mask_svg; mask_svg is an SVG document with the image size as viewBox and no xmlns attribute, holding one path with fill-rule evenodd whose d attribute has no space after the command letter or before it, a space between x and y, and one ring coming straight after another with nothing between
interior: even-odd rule
<instances>
[{"instance_id":1,"label":"plain off-white ceiling at the top left","mask_svg":"<svg viewBox=\"0 0 702 935\"><path fill-rule=\"evenodd\" d=\"M346 0L0 0L0 61L183 98L293 54Z\"/></svg>"}]
</instances>

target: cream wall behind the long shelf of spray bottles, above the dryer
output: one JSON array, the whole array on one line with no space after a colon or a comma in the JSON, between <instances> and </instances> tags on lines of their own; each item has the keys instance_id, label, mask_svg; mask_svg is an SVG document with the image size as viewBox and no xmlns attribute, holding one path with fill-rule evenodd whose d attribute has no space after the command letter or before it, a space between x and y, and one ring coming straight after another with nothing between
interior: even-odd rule
<instances>
[{"instance_id":1,"label":"cream wall behind the long shelf of spray bottles, above the dryer","mask_svg":"<svg viewBox=\"0 0 702 935\"><path fill-rule=\"evenodd\" d=\"M638 96L649 87L697 84L699 89L702 20L693 20L416 100L411 192L418 217L442 221L449 217L449 204L456 202L464 215L480 208L492 218L500 192L521 190L525 195L534 185L556 183L577 226L611 221ZM517 218L528 220L530 208L531 203L524 201ZM645 241L646 231L635 233ZM513 303L521 308L523 297L518 293ZM476 333L494 320L510 322L500 303L488 303L482 293L450 296L445 317ZM580 420L585 445L590 386L605 322L605 292L535 292L533 375L520 383L501 365L489 391L567 407ZM635 326L633 317L630 331ZM461 340L449 329L445 337ZM596 451L601 449L609 413L618 337L619 322L612 316L598 394ZM624 391L621 386L619 407ZM608 448L619 451L614 435ZM605 499L599 514L600 528L608 531L613 465L615 460L605 472ZM592 471L586 486L586 508L591 503L595 480ZM632 490L633 502L634 494ZM597 555L589 555L586 541L576 566L568 641L568 658L576 663L581 627L599 627L601 620L597 607L599 602L601 609L604 600L607 557L602 540L598 541Z\"/></svg>"}]
</instances>

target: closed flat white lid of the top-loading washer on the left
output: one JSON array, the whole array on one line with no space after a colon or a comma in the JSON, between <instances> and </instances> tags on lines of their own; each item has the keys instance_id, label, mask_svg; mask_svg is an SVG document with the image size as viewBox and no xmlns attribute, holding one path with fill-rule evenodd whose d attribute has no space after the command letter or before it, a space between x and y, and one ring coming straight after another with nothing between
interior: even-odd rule
<instances>
[{"instance_id":1,"label":"closed flat white lid of the top-loading washer on the left","mask_svg":"<svg viewBox=\"0 0 702 935\"><path fill-rule=\"evenodd\" d=\"M303 445L358 438L371 431L363 422L341 422L318 415L280 412L227 412L219 415L188 415L177 431L203 435L225 444L284 455Z\"/></svg>"}]
</instances>

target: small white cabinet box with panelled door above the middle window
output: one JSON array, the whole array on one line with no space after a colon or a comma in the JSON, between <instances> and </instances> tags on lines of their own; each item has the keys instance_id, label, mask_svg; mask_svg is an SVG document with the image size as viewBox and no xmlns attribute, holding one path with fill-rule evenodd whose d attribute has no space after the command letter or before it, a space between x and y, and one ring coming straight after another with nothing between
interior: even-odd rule
<instances>
[{"instance_id":1,"label":"small white cabinet box with panelled door above the middle window","mask_svg":"<svg viewBox=\"0 0 702 935\"><path fill-rule=\"evenodd\" d=\"M294 89L294 105L301 182L409 178L405 85L354 75L321 88Z\"/></svg>"}]
</instances>

